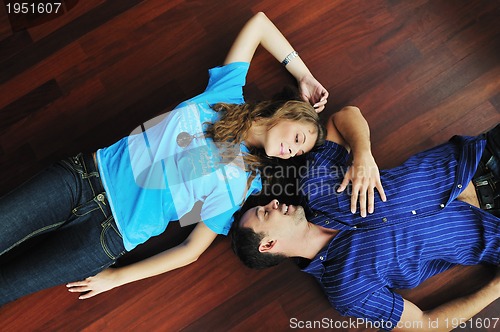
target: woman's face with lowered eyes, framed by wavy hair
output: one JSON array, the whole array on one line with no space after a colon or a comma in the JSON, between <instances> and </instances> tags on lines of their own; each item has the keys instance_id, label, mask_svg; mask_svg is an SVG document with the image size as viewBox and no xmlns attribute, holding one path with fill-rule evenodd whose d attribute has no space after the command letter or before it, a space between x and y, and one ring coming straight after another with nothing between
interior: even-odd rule
<instances>
[{"instance_id":1,"label":"woman's face with lowered eyes, framed by wavy hair","mask_svg":"<svg viewBox=\"0 0 500 332\"><path fill-rule=\"evenodd\" d=\"M269 157L288 159L311 151L317 138L313 124L284 120L266 132L264 150Z\"/></svg>"}]
</instances>

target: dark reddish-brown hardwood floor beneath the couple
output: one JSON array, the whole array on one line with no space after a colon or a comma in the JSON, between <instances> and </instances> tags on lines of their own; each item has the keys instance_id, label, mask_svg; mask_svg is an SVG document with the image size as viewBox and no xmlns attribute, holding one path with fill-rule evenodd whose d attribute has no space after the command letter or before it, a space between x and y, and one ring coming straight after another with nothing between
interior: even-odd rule
<instances>
[{"instance_id":1,"label":"dark reddish-brown hardwood floor beneath the couple","mask_svg":"<svg viewBox=\"0 0 500 332\"><path fill-rule=\"evenodd\" d=\"M0 4L0 194L203 91L207 69L222 62L258 11L330 91L323 118L347 104L362 109L381 167L500 120L499 1L73 0L65 6L62 15L30 23L9 20ZM293 79L260 49L247 82L246 98L264 99ZM188 231L171 224L122 264L174 245ZM402 292L431 308L474 290L492 273L458 267ZM497 300L472 327L457 330L494 331L476 323L493 323L499 313ZM220 237L188 267L90 300L60 286L9 303L0 308L0 329L285 331L291 319L324 318L349 322L291 263L249 270Z\"/></svg>"}]
</instances>

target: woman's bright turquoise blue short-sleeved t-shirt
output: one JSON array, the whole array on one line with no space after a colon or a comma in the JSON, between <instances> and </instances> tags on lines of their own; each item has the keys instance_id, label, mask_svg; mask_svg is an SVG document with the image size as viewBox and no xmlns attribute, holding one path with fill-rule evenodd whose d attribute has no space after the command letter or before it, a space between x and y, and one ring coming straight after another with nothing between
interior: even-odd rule
<instances>
[{"instance_id":1,"label":"woman's bright turquoise blue short-sleeved t-shirt","mask_svg":"<svg viewBox=\"0 0 500 332\"><path fill-rule=\"evenodd\" d=\"M210 69L202 94L97 151L102 182L127 250L162 233L171 220L182 225L203 221L226 235L233 213L262 189L257 176L247 191L245 145L214 143L203 135L208 123L220 117L211 105L244 102L248 68L249 63L240 62ZM184 146L177 142L179 134L194 138ZM222 160L228 149L233 157Z\"/></svg>"}]
</instances>

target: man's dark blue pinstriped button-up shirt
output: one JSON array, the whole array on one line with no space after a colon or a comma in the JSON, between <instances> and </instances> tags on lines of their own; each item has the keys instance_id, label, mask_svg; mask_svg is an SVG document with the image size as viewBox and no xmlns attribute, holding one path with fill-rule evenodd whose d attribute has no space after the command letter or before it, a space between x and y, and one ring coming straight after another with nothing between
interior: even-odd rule
<instances>
[{"instance_id":1,"label":"man's dark blue pinstriped button-up shirt","mask_svg":"<svg viewBox=\"0 0 500 332\"><path fill-rule=\"evenodd\" d=\"M348 152L333 142L309 154L301 190L309 221L340 232L304 269L344 315L395 326L413 288L456 264L500 263L500 219L457 196L471 181L485 147L482 137L455 136L382 170L387 195L376 195L366 218L350 212L350 196L336 189Z\"/></svg>"}]
</instances>

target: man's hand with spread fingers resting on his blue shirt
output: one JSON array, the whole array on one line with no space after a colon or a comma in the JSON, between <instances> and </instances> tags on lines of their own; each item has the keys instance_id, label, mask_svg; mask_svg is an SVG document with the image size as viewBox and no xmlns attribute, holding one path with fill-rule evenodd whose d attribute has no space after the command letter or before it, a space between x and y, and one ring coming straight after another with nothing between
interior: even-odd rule
<instances>
[{"instance_id":1,"label":"man's hand with spread fingers resting on his blue shirt","mask_svg":"<svg viewBox=\"0 0 500 332\"><path fill-rule=\"evenodd\" d=\"M351 212L356 213L356 205L359 199L359 210L362 217L366 212L373 213L375 209L375 188L377 188L382 201L386 201L384 188L380 181L380 173L371 153L363 153L354 156L353 163L344 176L344 180L337 189L342 192L352 182ZM368 204L368 209L367 209Z\"/></svg>"}]
</instances>

